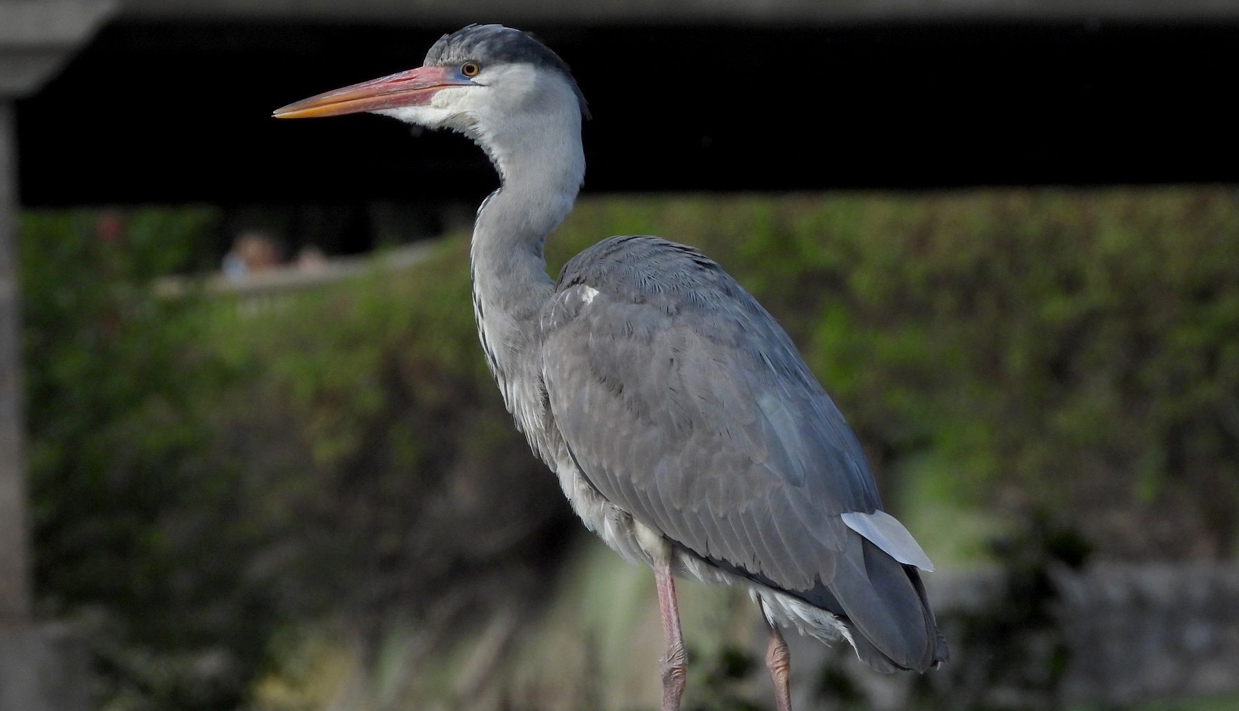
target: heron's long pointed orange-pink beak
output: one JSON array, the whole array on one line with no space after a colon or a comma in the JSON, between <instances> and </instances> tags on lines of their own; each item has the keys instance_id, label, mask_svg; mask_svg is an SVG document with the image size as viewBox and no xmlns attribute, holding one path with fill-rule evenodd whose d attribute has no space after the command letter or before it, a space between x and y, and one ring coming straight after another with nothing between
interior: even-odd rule
<instances>
[{"instance_id":1,"label":"heron's long pointed orange-pink beak","mask_svg":"<svg viewBox=\"0 0 1239 711\"><path fill-rule=\"evenodd\" d=\"M398 107L420 107L430 103L430 98L440 89L470 83L447 67L419 67L301 99L275 109L271 115L276 119L312 119Z\"/></svg>"}]
</instances>

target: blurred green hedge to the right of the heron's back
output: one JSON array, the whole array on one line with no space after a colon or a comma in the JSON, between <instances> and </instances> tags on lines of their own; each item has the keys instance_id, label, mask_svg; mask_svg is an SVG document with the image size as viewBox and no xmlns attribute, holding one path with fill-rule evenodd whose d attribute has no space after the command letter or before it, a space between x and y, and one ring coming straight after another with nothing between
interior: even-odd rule
<instances>
[{"instance_id":1,"label":"blurred green hedge to the right of the heron's back","mask_svg":"<svg viewBox=\"0 0 1239 711\"><path fill-rule=\"evenodd\" d=\"M1233 551L1233 191L603 199L560 232L559 258L653 232L720 261L798 342L896 508L891 476L928 461L974 505L1068 509L1111 555Z\"/></svg>"}]
</instances>

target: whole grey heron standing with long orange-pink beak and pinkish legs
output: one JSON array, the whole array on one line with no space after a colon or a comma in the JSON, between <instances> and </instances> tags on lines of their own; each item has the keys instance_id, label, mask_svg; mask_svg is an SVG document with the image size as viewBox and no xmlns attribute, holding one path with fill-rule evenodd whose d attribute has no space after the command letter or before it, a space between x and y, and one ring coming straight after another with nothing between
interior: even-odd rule
<instances>
[{"instance_id":1,"label":"whole grey heron standing with long orange-pink beak and pinkish legs","mask_svg":"<svg viewBox=\"0 0 1239 711\"><path fill-rule=\"evenodd\" d=\"M358 111L462 133L499 173L470 253L482 349L585 525L653 567L664 710L679 707L686 673L674 576L750 591L781 710L782 627L844 638L878 671L945 661L918 572L929 559L882 510L844 416L740 284L691 246L646 235L605 239L548 276L543 245L585 175L585 99L558 55L519 30L470 25L422 67L274 115Z\"/></svg>"}]
</instances>

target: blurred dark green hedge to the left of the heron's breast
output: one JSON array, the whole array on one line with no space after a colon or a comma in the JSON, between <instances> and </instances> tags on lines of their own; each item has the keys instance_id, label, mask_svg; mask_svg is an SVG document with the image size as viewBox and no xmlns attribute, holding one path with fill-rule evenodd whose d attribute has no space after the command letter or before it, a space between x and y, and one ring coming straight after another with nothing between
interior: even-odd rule
<instances>
[{"instance_id":1,"label":"blurred dark green hedge to the left of the heron's breast","mask_svg":"<svg viewBox=\"0 0 1239 711\"><path fill-rule=\"evenodd\" d=\"M378 639L442 590L519 600L536 581L496 569L561 545L477 353L463 243L266 310L156 297L214 220L24 224L37 583L92 633L105 709L235 707L294 621Z\"/></svg>"}]
</instances>

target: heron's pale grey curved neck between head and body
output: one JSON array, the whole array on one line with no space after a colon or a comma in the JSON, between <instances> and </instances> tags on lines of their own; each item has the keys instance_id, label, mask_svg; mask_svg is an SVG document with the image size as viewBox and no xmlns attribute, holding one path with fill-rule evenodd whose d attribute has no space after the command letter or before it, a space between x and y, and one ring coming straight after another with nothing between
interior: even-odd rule
<instances>
[{"instance_id":1,"label":"heron's pale grey curved neck between head and body","mask_svg":"<svg viewBox=\"0 0 1239 711\"><path fill-rule=\"evenodd\" d=\"M509 383L518 374L532 375L524 369L536 368L532 339L554 289L543 245L572 209L581 187L585 156L580 131L574 99L570 110L507 124L503 134L478 136L502 182L482 203L473 225L473 307L487 360L509 410L514 403Z\"/></svg>"}]
</instances>

